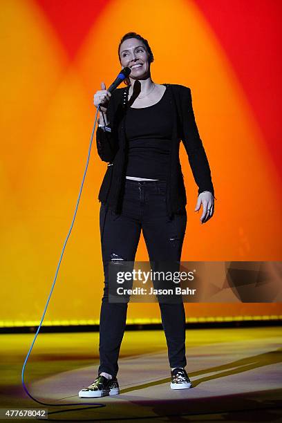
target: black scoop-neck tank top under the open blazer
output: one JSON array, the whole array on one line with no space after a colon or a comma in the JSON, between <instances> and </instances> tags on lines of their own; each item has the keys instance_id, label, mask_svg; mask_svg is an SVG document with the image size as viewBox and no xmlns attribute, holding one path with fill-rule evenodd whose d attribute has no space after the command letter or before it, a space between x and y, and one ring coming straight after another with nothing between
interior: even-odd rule
<instances>
[{"instance_id":1,"label":"black scoop-neck tank top under the open blazer","mask_svg":"<svg viewBox=\"0 0 282 423\"><path fill-rule=\"evenodd\" d=\"M126 113L126 176L166 180L172 137L167 88L160 101Z\"/></svg>"}]
</instances>

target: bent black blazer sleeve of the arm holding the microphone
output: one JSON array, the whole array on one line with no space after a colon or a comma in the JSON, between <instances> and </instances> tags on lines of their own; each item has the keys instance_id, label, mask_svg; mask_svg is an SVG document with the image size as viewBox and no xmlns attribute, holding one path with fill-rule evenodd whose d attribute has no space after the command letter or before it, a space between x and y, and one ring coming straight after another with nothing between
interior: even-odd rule
<instances>
[{"instance_id":1,"label":"bent black blazer sleeve of the arm holding the microphone","mask_svg":"<svg viewBox=\"0 0 282 423\"><path fill-rule=\"evenodd\" d=\"M118 151L118 140L116 138L115 127L113 124L113 113L115 109L113 93L110 97L108 109L106 111L106 117L109 121L107 128L111 131L104 131L104 129L100 126L97 127L96 131L97 153L103 162L112 162L115 158L115 153ZM100 123L103 124L103 120Z\"/></svg>"}]
</instances>

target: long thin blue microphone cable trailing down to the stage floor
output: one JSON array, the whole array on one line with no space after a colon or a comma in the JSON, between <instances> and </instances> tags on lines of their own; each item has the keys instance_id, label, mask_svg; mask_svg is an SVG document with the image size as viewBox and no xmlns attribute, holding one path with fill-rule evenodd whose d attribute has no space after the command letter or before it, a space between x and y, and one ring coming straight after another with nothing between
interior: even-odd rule
<instances>
[{"instance_id":1,"label":"long thin blue microphone cable trailing down to the stage floor","mask_svg":"<svg viewBox=\"0 0 282 423\"><path fill-rule=\"evenodd\" d=\"M24 383L24 370L25 370L25 368L26 368L26 363L27 363L27 361L28 361L28 358L30 357L31 350L32 350L32 348L33 348L33 346L34 346L34 344L35 344L35 340L37 339L37 335L38 335L39 330L40 330L40 328L41 328L42 322L44 321L44 317L45 317L45 314L46 314L46 310L47 310L47 307L48 307L48 303L49 303L49 301L50 301L50 297L51 297L51 295L52 295L52 292L53 292L53 289L54 289L54 286L55 286L55 282L56 282L56 279L57 279L57 274L58 274L58 272L59 272L59 266L61 265L61 261L62 261L62 257L63 257L63 254L64 254L64 250L65 250L65 247L66 247L66 243L68 242L68 238L69 238L69 236L70 236L70 234L71 234L71 230L73 229L73 223L74 223L74 221L75 221L75 216L76 216L76 214L77 214L77 208L78 208L78 205L79 205L79 200L80 200L80 197L81 197L81 194L82 194L82 187L83 187L83 185L84 185L84 180L85 180L85 176L86 176L86 171L87 171L87 168L88 168L88 163L89 163L89 158L90 158L90 153L91 153L91 147L92 147L92 142L93 142L93 135L94 135L95 126L96 126L96 122L97 122L97 113L98 113L98 111L99 111L99 110L100 110L100 106L98 106L98 107L97 107L97 111L96 111L96 115L95 115L95 123L94 123L94 126L93 126L93 131L92 131L92 135L91 135L91 141L90 141L90 145L89 145L89 149L88 149L88 157L87 157L87 161L86 161L86 167L85 167L85 171L84 171L84 176L83 176L83 178L82 178L82 185L81 185L80 190L79 190L79 196L78 196L78 198L77 198L77 205L76 205L76 207L75 207L75 214L73 215L73 221L72 221L72 223L71 223L71 228L70 228L70 230L68 231L68 235L66 236L66 241L64 242L64 247L63 247L63 250L62 250L61 257L60 257L60 259L59 259L59 263L58 263L58 265L57 265L57 270L56 270L55 278L54 278L54 281L53 281L53 285L52 285L52 288L51 288L51 290L50 290L50 294L49 294L49 297L48 297L48 300L47 300L46 306L45 306L45 308L44 308L44 312L43 312L43 315L42 315L42 317L41 317L41 321L40 321L40 323L39 323L39 326L38 326L37 332L36 332L35 337L34 337L34 339L33 339L33 341L32 341L32 344L31 344L31 346L30 346L30 349L29 349L29 351L28 351L28 354L26 355L26 359L25 359L25 361L24 361L24 363L23 363L23 368L22 368L22 371L21 371L21 383L22 383L22 385L23 385L23 389L26 391L26 393L28 394L28 396L29 396L32 400L34 400L35 402L38 402L38 404L43 404L43 405L47 405L47 406L77 406L77 405L93 405L93 406L94 406L94 408L100 408L100 407L104 407L104 406L106 406L105 404L97 404L97 403L93 404L93 402L74 402L74 403L71 403L71 404L48 404L47 402L41 402L41 401L39 401L39 400L36 400L36 399L35 399L35 397L32 397L32 395L30 395L30 393L28 392L28 388L26 388L26 385L25 385L25 383Z\"/></svg>"}]
</instances>

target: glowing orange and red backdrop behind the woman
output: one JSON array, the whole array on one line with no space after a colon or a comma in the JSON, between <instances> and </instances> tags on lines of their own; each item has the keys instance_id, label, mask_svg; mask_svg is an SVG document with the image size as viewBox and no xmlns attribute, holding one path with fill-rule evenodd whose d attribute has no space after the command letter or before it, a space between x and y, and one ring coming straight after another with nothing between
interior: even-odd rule
<instances>
[{"instance_id":1,"label":"glowing orange and red backdrop behind the woman","mask_svg":"<svg viewBox=\"0 0 282 423\"><path fill-rule=\"evenodd\" d=\"M71 226L94 124L93 94L120 70L118 44L149 40L158 84L191 88L215 213L187 187L182 261L281 261L281 1L2 0L0 321L38 320ZM46 319L99 319L103 288L95 140ZM137 261L148 260L141 238ZM187 317L281 314L279 304L189 304ZM131 304L129 319L159 317Z\"/></svg>"}]
</instances>

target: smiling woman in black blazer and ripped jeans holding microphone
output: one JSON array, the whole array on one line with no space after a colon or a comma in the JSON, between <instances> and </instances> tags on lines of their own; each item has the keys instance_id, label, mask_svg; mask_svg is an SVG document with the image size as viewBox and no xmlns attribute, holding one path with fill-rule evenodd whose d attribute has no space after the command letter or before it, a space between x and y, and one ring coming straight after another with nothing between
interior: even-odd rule
<instances>
[{"instance_id":1,"label":"smiling woman in black blazer and ripped jeans holding microphone","mask_svg":"<svg viewBox=\"0 0 282 423\"><path fill-rule=\"evenodd\" d=\"M153 53L146 39L129 32L120 41L122 68L131 68L126 88L94 95L100 106L97 151L109 162L100 188L100 231L104 296L100 314L98 377L79 397L119 393L118 355L124 335L127 303L109 302L109 262L134 261L141 229L150 261L180 261L187 223L185 186L179 161L180 140L198 185L195 211L203 205L201 223L214 214L214 187L198 134L189 88L156 84L151 79ZM190 388L185 371L183 303L159 303L167 338L171 388Z\"/></svg>"}]
</instances>

